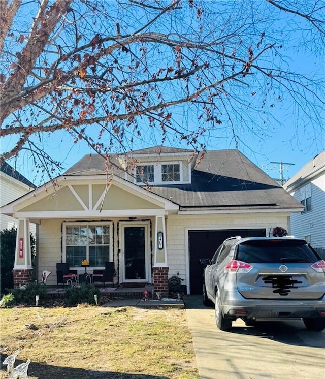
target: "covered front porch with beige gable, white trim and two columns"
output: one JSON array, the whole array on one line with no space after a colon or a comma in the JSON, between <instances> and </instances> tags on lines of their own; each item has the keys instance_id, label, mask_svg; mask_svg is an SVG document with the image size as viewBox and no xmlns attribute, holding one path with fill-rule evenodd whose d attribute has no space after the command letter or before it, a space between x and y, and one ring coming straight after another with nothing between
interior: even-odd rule
<instances>
[{"instance_id":1,"label":"covered front porch with beige gable, white trim and two columns","mask_svg":"<svg viewBox=\"0 0 325 379\"><path fill-rule=\"evenodd\" d=\"M59 290L59 263L69 264L78 283L94 282L111 263L113 280L103 283L104 289L114 289L108 292L121 287L127 294L152 285L168 294L166 220L178 206L145 188L115 176L109 184L103 175L61 176L55 186L48 183L3 211L18 218L15 287L40 282L48 271L48 285ZM37 224L36 278L31 276L29 222Z\"/></svg>"}]
</instances>

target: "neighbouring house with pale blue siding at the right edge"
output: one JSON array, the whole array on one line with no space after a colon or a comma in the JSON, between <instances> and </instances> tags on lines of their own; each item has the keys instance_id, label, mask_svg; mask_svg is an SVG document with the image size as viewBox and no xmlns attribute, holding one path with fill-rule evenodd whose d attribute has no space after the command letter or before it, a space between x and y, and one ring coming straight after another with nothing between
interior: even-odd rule
<instances>
[{"instance_id":1,"label":"neighbouring house with pale blue siding at the right edge","mask_svg":"<svg viewBox=\"0 0 325 379\"><path fill-rule=\"evenodd\" d=\"M305 238L325 258L325 150L283 187L304 209L290 216L290 233Z\"/></svg>"}]
</instances>

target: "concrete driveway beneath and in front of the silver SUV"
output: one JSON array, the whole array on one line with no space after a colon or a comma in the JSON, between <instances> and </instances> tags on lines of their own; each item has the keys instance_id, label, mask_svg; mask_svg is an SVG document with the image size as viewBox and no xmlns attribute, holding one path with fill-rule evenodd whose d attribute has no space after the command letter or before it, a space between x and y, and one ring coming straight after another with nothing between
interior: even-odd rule
<instances>
[{"instance_id":1,"label":"concrete driveway beneath and in front of the silver SUV","mask_svg":"<svg viewBox=\"0 0 325 379\"><path fill-rule=\"evenodd\" d=\"M183 300L201 379L325 378L325 331L309 332L302 321L253 328L239 320L222 332L201 296Z\"/></svg>"}]
</instances>

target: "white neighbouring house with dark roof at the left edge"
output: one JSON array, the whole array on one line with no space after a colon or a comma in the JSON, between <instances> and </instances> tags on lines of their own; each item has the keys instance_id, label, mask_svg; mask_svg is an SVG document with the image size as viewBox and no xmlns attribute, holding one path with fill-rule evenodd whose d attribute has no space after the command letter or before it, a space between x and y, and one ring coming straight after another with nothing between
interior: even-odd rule
<instances>
[{"instance_id":1,"label":"white neighbouring house with dark roof at the left edge","mask_svg":"<svg viewBox=\"0 0 325 379\"><path fill-rule=\"evenodd\" d=\"M0 206L20 198L36 187L13 167L4 162L0 167ZM17 226L17 219L0 213L0 230ZM36 232L36 228L32 228Z\"/></svg>"}]
</instances>

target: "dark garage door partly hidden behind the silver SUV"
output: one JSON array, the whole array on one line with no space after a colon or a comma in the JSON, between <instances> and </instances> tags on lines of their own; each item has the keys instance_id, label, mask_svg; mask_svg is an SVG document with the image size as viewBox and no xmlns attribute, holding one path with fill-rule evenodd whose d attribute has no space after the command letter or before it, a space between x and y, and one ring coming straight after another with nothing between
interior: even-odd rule
<instances>
[{"instance_id":1,"label":"dark garage door partly hidden behind the silver SUV","mask_svg":"<svg viewBox=\"0 0 325 379\"><path fill-rule=\"evenodd\" d=\"M202 294L203 266L200 264L200 258L211 259L226 238L263 237L265 233L265 229L190 230L188 232L190 294Z\"/></svg>"}]
</instances>

